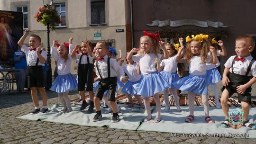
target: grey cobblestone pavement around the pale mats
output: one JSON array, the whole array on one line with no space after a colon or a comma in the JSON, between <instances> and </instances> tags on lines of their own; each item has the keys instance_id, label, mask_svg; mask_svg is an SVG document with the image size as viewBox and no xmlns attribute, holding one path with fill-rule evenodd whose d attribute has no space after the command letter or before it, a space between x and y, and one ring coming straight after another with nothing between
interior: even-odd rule
<instances>
[{"instance_id":1,"label":"grey cobblestone pavement around the pale mats","mask_svg":"<svg viewBox=\"0 0 256 144\"><path fill-rule=\"evenodd\" d=\"M253 90L255 95L255 85ZM47 94L49 107L59 103L55 92L47 91ZM70 99L78 97L78 92L70 92ZM65 125L16 118L29 113L33 108L30 92L0 95L0 144L256 144L256 139L177 137L177 134L172 133Z\"/></svg>"}]
</instances>

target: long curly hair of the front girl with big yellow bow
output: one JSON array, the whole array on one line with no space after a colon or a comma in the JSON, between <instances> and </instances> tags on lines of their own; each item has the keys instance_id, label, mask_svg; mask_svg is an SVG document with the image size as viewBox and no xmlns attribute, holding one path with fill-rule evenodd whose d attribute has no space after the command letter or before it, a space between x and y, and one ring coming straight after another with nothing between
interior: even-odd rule
<instances>
[{"instance_id":1,"label":"long curly hair of the front girl with big yellow bow","mask_svg":"<svg viewBox=\"0 0 256 144\"><path fill-rule=\"evenodd\" d=\"M196 41L198 42L199 46L200 46L200 56L201 56L201 61L203 63L207 62L207 57L208 57L208 52L210 51L210 42L208 40L203 39L203 41L200 43L198 40L192 40L192 41ZM187 43L186 46L186 54L185 54L185 59L187 63L190 63L190 60L192 58L192 53L191 53L191 42Z\"/></svg>"}]
</instances>

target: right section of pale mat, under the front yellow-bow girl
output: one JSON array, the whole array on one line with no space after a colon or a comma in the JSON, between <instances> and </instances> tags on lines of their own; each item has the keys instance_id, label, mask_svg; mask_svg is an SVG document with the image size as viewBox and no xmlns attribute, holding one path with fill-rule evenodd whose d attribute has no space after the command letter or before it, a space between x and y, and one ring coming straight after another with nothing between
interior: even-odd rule
<instances>
[{"instance_id":1,"label":"right section of pale mat, under the front yellow-bow girl","mask_svg":"<svg viewBox=\"0 0 256 144\"><path fill-rule=\"evenodd\" d=\"M221 108L210 107L210 117L215 120L215 124L207 124L204 120L205 114L203 107L195 106L195 119L192 123L186 123L184 120L189 115L189 107L182 107L182 112L176 112L176 107L165 112L162 108L162 121L154 124L152 120L142 123L137 130L179 133L185 134L203 134L205 136L220 136L220 137L239 137L239 138L256 138L256 130L242 126L239 129L231 127L221 128L220 124L224 120L224 115ZM230 107L229 110L240 110L241 108ZM155 118L156 110L153 117ZM256 123L256 108L250 108L249 119L251 123ZM239 135L238 135L239 134ZM179 136L179 135L178 135ZM192 137L192 135L186 135ZM194 137L198 135L194 135ZM211 136L211 137L212 137Z\"/></svg>"}]
</instances>

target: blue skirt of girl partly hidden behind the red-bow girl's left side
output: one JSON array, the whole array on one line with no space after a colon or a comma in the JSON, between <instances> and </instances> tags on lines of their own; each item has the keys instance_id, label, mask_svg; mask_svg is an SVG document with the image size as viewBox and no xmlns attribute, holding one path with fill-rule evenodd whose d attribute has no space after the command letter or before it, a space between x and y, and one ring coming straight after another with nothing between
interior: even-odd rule
<instances>
[{"instance_id":1,"label":"blue skirt of girl partly hidden behind the red-bow girl's left side","mask_svg":"<svg viewBox=\"0 0 256 144\"><path fill-rule=\"evenodd\" d=\"M135 82L127 81L121 92L125 93L125 94L132 95L132 96L137 95L140 81L141 81L141 79L139 81L135 81Z\"/></svg>"}]
</instances>

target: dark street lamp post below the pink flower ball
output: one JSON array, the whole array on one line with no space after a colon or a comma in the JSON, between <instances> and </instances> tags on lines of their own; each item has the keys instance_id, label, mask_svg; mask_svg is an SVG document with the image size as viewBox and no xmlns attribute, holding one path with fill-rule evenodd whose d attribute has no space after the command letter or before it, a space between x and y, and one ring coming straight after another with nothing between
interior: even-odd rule
<instances>
[{"instance_id":1,"label":"dark street lamp post below the pink flower ball","mask_svg":"<svg viewBox=\"0 0 256 144\"><path fill-rule=\"evenodd\" d=\"M47 86L49 90L52 87L52 66L51 66L51 53L50 53L50 23L47 23Z\"/></svg>"}]
</instances>

